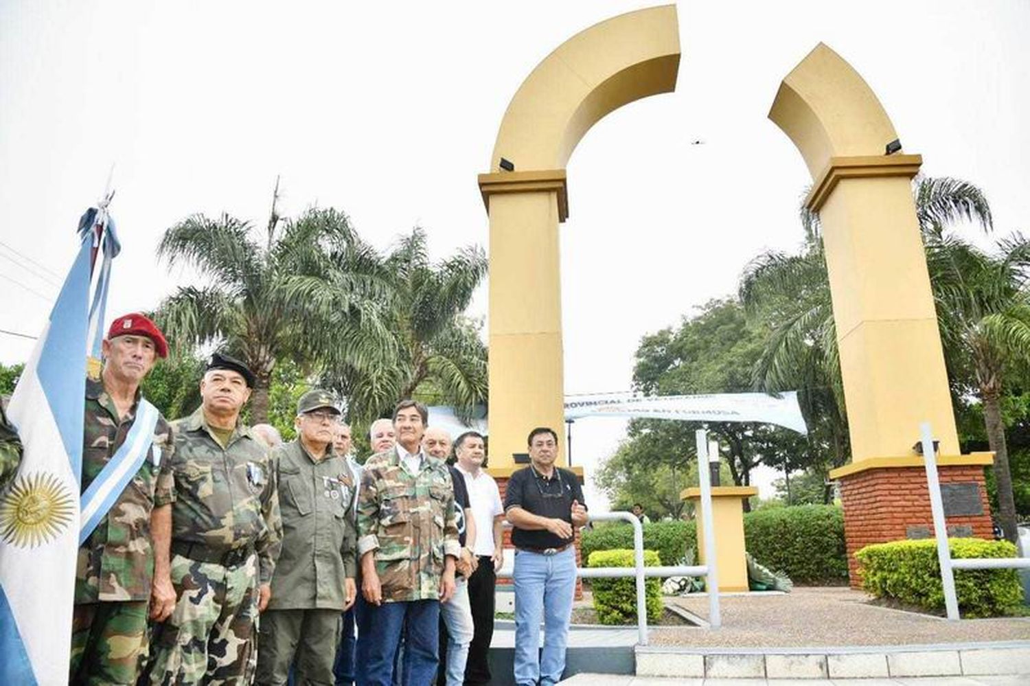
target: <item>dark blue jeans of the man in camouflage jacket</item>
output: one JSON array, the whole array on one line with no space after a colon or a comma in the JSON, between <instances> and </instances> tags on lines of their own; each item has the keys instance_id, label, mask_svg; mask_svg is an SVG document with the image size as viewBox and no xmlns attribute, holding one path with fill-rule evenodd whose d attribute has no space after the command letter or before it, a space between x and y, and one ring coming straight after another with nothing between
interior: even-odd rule
<instances>
[{"instance_id":1,"label":"dark blue jeans of the man in camouflage jacket","mask_svg":"<svg viewBox=\"0 0 1030 686\"><path fill-rule=\"evenodd\" d=\"M404 631L404 686L426 686L437 675L437 643L440 641L440 602L410 601L366 605L363 613L368 632L358 624L357 683L359 686L390 686L393 660ZM360 621L360 618L359 618Z\"/></svg>"}]
</instances>

